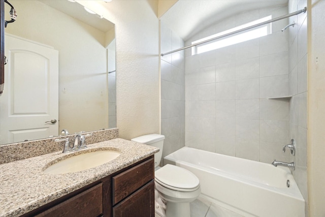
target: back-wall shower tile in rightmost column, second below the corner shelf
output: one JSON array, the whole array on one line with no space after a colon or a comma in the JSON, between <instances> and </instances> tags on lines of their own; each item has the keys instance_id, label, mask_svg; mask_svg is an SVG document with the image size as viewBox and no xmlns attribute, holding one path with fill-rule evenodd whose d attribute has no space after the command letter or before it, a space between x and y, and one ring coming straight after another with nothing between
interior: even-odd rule
<instances>
[{"instance_id":1,"label":"back-wall shower tile in rightmost column, second below the corner shelf","mask_svg":"<svg viewBox=\"0 0 325 217\"><path fill-rule=\"evenodd\" d=\"M289 122L283 120L260 120L259 139L267 142L287 142Z\"/></svg>"}]
</instances>

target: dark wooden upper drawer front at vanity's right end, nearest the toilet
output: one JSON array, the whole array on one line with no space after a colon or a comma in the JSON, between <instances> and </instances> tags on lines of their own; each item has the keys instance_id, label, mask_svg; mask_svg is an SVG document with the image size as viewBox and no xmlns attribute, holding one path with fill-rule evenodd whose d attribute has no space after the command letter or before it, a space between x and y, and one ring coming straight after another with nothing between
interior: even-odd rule
<instances>
[{"instance_id":1,"label":"dark wooden upper drawer front at vanity's right end, nearest the toilet","mask_svg":"<svg viewBox=\"0 0 325 217\"><path fill-rule=\"evenodd\" d=\"M154 179L153 158L113 177L113 205Z\"/></svg>"}]
</instances>

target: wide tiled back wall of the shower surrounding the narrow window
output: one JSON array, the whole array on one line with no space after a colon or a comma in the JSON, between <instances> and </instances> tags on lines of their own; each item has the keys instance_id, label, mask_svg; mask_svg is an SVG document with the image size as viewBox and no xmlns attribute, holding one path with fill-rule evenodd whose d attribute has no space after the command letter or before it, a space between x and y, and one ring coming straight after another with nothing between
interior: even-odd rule
<instances>
[{"instance_id":1,"label":"wide tiled back wall of the shower surrounding the narrow window","mask_svg":"<svg viewBox=\"0 0 325 217\"><path fill-rule=\"evenodd\" d=\"M222 32L287 7L244 12L186 41ZM272 23L272 34L202 54L185 52L185 145L271 163L288 161L288 19Z\"/></svg>"}]
</instances>

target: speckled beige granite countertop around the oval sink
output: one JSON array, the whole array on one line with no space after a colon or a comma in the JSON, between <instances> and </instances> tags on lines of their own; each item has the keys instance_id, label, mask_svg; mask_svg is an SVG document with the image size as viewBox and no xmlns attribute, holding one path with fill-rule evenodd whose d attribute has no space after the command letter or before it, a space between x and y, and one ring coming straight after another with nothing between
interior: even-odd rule
<instances>
[{"instance_id":1,"label":"speckled beige granite countertop around the oval sink","mask_svg":"<svg viewBox=\"0 0 325 217\"><path fill-rule=\"evenodd\" d=\"M44 167L58 158L78 151L44 154L0 165L0 216L19 216L139 162L158 152L158 148L124 139L87 145L91 149L112 149L120 156L98 167L67 174L45 174ZM83 151L83 150L82 150Z\"/></svg>"}]
</instances>

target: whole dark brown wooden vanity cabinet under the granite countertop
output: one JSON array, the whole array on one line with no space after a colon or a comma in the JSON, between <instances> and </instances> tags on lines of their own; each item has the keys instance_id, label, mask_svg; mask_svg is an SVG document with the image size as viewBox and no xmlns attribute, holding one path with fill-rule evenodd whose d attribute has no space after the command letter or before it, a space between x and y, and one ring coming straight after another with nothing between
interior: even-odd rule
<instances>
[{"instance_id":1,"label":"whole dark brown wooden vanity cabinet under the granite countertop","mask_svg":"<svg viewBox=\"0 0 325 217\"><path fill-rule=\"evenodd\" d=\"M146 158L22 216L153 217L154 158Z\"/></svg>"}]
</instances>

